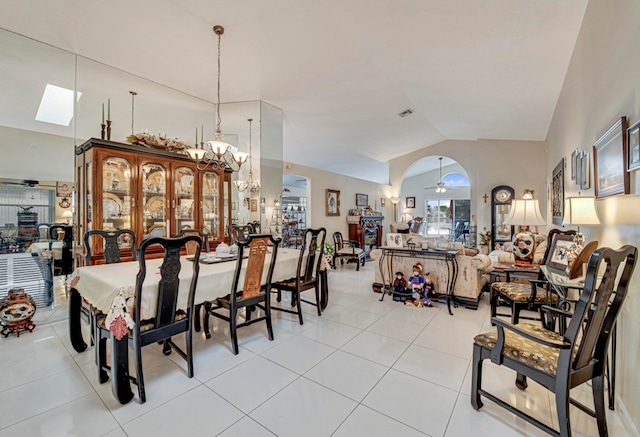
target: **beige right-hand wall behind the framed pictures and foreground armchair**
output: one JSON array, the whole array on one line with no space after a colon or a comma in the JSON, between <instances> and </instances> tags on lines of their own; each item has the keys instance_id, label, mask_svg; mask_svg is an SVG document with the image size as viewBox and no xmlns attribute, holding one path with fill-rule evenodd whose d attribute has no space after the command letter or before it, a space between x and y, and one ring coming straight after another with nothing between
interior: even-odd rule
<instances>
[{"instance_id":1,"label":"beige right-hand wall behind the framed pictures and foreground armchair","mask_svg":"<svg viewBox=\"0 0 640 437\"><path fill-rule=\"evenodd\" d=\"M592 0L567 71L547 146L546 174L575 148L592 152L594 141L621 116L630 124L640 119L640 2ZM593 177L593 165L591 166ZM631 195L600 200L601 226L582 227L587 240L601 246L640 243L640 186L631 173ZM578 189L565 175L565 195ZM593 188L581 195L594 195ZM617 395L640 428L640 268L618 322Z\"/></svg>"}]
</instances>

